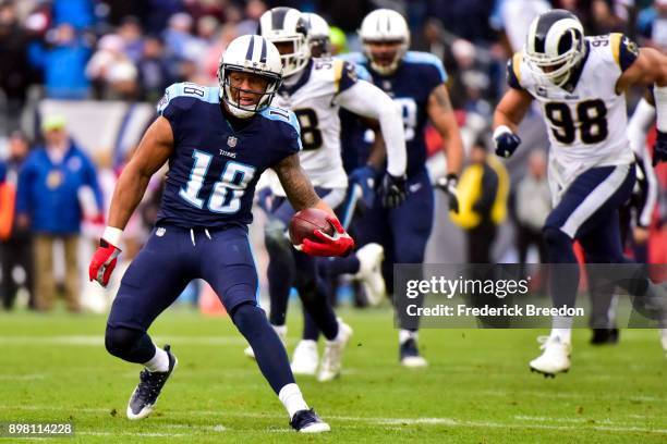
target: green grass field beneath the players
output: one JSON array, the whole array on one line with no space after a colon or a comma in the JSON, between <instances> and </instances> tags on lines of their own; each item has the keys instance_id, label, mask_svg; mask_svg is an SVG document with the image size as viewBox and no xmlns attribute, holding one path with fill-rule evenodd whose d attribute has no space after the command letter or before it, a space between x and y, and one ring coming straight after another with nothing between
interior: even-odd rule
<instances>
[{"instance_id":1,"label":"green grass field beneath the players","mask_svg":"<svg viewBox=\"0 0 667 444\"><path fill-rule=\"evenodd\" d=\"M290 353L301 322L292 313ZM77 443L667 442L667 359L655 331L623 331L602 348L575 331L572 369L547 380L527 370L544 331L426 330L429 367L408 370L389 308L340 314L355 330L342 378L298 380L331 424L326 435L291 431L228 318L184 309L151 330L180 366L138 422L125 405L140 368L106 353L106 317L0 313L0 421L72 421L75 436L58 442Z\"/></svg>"}]
</instances>

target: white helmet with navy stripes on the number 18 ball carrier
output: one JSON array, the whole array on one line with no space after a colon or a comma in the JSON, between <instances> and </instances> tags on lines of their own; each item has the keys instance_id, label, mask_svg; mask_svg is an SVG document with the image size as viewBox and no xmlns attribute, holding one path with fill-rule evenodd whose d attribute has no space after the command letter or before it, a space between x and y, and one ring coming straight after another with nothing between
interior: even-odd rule
<instances>
[{"instance_id":1,"label":"white helmet with navy stripes on the number 18 ball carrier","mask_svg":"<svg viewBox=\"0 0 667 444\"><path fill-rule=\"evenodd\" d=\"M269 81L265 91L253 91L262 96L257 104L252 108L244 107L232 97L229 81L231 72L256 74ZM271 104L282 82L280 53L274 44L262 36L237 37L229 44L220 59L218 82L220 98L229 106L229 111L237 118L247 119Z\"/></svg>"}]
</instances>

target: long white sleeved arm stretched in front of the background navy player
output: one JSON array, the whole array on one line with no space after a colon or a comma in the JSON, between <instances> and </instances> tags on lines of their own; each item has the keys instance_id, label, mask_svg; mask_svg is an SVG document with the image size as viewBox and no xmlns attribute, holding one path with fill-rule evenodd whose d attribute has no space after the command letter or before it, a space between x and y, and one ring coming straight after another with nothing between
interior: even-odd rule
<instances>
[{"instance_id":1,"label":"long white sleeved arm stretched in front of the background navy player","mask_svg":"<svg viewBox=\"0 0 667 444\"><path fill-rule=\"evenodd\" d=\"M337 102L348 111L379 121L387 146L387 171L393 176L405 174L408 155L403 119L393 100L377 86L359 81L341 92Z\"/></svg>"}]
</instances>

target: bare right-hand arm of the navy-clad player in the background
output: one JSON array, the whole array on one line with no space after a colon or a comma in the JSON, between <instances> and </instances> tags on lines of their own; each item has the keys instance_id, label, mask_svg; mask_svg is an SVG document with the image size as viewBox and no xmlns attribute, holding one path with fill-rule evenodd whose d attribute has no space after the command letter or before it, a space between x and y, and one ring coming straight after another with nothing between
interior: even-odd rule
<instances>
[{"instance_id":1,"label":"bare right-hand arm of the navy-clad player in the background","mask_svg":"<svg viewBox=\"0 0 667 444\"><path fill-rule=\"evenodd\" d=\"M447 141L445 155L448 173L459 174L463 164L463 140L445 84L437 86L428 96L427 112L433 126Z\"/></svg>"}]
</instances>

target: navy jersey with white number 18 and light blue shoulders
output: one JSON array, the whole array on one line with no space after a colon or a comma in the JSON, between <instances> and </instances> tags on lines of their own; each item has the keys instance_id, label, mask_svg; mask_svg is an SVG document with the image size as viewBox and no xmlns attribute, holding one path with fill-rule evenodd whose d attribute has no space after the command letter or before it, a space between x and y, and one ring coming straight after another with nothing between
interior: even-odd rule
<instances>
[{"instance_id":1,"label":"navy jersey with white number 18 and light blue shoulders","mask_svg":"<svg viewBox=\"0 0 667 444\"><path fill-rule=\"evenodd\" d=\"M219 87L180 83L158 103L174 152L157 223L182 227L245 226L262 173L301 150L294 113L269 107L234 131L221 111Z\"/></svg>"}]
</instances>

